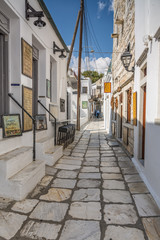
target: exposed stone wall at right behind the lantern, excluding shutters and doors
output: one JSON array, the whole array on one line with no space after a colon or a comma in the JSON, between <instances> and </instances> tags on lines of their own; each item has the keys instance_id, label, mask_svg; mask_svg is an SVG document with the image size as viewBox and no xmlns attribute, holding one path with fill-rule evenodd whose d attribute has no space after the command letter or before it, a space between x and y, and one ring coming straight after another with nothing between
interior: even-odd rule
<instances>
[{"instance_id":1,"label":"exposed stone wall at right behind the lantern, excluding shutters and doors","mask_svg":"<svg viewBox=\"0 0 160 240\"><path fill-rule=\"evenodd\" d=\"M121 20L117 24L116 20ZM117 124L116 137L120 138L120 118L121 118L121 105L122 105L122 123L127 123L127 97L126 92L129 88L133 93L134 87L134 74L127 72L122 65L121 55L130 43L130 52L132 60L129 69L134 66L135 61L135 6L134 0L114 0L114 30L113 33L118 34L118 38L113 39L113 55L112 55L112 78L113 78L113 96L118 99L117 107ZM120 94L123 94L123 102L120 103ZM134 130L133 130L133 108L131 99L131 122L127 123L128 126L128 143L124 144L126 149L133 154L134 149ZM122 124L123 125L123 124ZM125 126L125 127L126 127ZM122 127L123 132L123 127ZM122 134L123 142L123 134Z\"/></svg>"}]
</instances>

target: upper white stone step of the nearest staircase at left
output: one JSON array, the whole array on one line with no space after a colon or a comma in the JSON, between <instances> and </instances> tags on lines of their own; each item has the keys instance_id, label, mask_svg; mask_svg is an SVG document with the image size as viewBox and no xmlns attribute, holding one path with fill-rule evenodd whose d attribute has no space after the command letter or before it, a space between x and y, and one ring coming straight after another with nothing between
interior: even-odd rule
<instances>
[{"instance_id":1,"label":"upper white stone step of the nearest staircase at left","mask_svg":"<svg viewBox=\"0 0 160 240\"><path fill-rule=\"evenodd\" d=\"M32 162L31 147L16 148L0 155L0 176L8 179Z\"/></svg>"}]
</instances>

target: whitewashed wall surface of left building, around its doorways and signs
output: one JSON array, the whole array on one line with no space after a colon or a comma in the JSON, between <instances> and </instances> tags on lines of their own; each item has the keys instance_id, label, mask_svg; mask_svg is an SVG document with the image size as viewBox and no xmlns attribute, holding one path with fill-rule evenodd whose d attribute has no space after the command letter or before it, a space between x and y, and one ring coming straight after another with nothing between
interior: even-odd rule
<instances>
[{"instance_id":1,"label":"whitewashed wall surface of left building, around its doorways and signs","mask_svg":"<svg viewBox=\"0 0 160 240\"><path fill-rule=\"evenodd\" d=\"M42 11L37 0L30 0L30 5L36 11ZM9 33L9 91L13 96L22 103L22 85L32 88L32 79L26 77L21 71L21 38L23 38L31 46L34 45L39 50L38 61L38 81L39 81L39 96L46 96L46 79L50 79L50 60L54 60L57 65L57 86L53 89L57 92L56 101L52 102L57 105L59 116L58 119L66 119L66 112L60 112L60 98L65 100L65 110L67 110L67 76L66 76L66 59L59 58L59 53L53 54L53 41L60 48L64 48L60 42L55 31L51 27L50 22L46 17L43 20L46 26L39 29L33 24L37 18L30 18L29 21L25 18L25 0L4 0L1 1L1 11L10 20L10 33ZM11 83L19 83L19 87L11 86ZM49 108L50 100L47 98L42 99L43 104ZM11 113L21 113L21 110L10 101ZM39 113L45 113L39 106ZM48 114L47 114L48 116ZM26 134L26 133L24 133ZM53 127L48 122L48 134L53 135ZM30 132L30 135L31 132ZM31 141L31 139L30 139Z\"/></svg>"}]
</instances>

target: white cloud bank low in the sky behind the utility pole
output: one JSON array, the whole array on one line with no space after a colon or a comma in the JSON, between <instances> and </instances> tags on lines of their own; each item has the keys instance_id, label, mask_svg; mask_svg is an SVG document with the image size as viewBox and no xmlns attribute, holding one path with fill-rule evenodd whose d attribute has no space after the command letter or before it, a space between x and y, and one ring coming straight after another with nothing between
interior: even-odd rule
<instances>
[{"instance_id":1,"label":"white cloud bank low in the sky behind the utility pole","mask_svg":"<svg viewBox=\"0 0 160 240\"><path fill-rule=\"evenodd\" d=\"M100 57L98 59L89 59L88 57L85 57L81 60L81 72L91 70L97 71L98 73L105 73L108 69L110 61L111 59L108 57ZM78 74L78 57L75 57L74 55L72 56L70 68L72 68L76 72L76 74Z\"/></svg>"}]
</instances>

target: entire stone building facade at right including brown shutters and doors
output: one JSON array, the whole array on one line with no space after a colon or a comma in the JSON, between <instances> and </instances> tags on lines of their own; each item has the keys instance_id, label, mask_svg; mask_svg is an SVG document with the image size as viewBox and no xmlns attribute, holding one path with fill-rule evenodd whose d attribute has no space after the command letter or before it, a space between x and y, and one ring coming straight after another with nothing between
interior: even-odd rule
<instances>
[{"instance_id":1,"label":"entire stone building facade at right including brown shutters and doors","mask_svg":"<svg viewBox=\"0 0 160 240\"><path fill-rule=\"evenodd\" d=\"M134 0L114 1L114 30L112 77L113 97L112 105L112 134L122 142L128 152L134 151L133 127L133 86L134 73L125 70L121 62L121 55L125 49L132 54L130 68L134 66L135 49L135 5ZM130 69L129 68L129 69Z\"/></svg>"}]
</instances>

